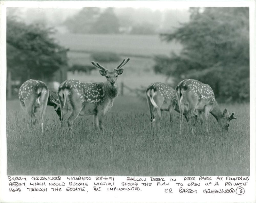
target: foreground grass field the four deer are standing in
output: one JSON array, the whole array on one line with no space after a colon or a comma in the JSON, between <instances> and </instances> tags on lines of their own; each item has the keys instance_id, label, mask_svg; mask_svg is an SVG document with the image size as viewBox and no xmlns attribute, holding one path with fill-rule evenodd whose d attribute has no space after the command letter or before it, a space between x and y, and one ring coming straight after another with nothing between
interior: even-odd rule
<instances>
[{"instance_id":1,"label":"foreground grass field the four deer are standing in","mask_svg":"<svg viewBox=\"0 0 256 203\"><path fill-rule=\"evenodd\" d=\"M209 134L167 113L151 128L148 107L134 97L118 97L104 119L105 133L94 132L92 116L79 117L60 133L60 121L47 107L44 135L28 127L18 100L7 102L8 175L248 176L250 175L249 104L220 105L235 111L228 133L210 115Z\"/></svg>"}]
</instances>

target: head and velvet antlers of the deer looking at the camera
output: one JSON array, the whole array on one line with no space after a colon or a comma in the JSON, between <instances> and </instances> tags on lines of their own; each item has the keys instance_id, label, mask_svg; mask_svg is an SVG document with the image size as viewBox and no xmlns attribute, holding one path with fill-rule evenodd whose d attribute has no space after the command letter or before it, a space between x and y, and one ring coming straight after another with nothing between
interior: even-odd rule
<instances>
[{"instance_id":1,"label":"head and velvet antlers of the deer looking at the camera","mask_svg":"<svg viewBox=\"0 0 256 203\"><path fill-rule=\"evenodd\" d=\"M110 71L110 70L106 69L105 67L101 66L99 63L95 63L94 61L92 61L92 64L100 69L99 70L100 75L105 76L107 78L108 85L115 87L116 86L117 77L119 75L121 75L123 73L123 71L124 71L124 69L121 69L121 67L123 67L129 60L130 60L130 58L127 58L126 60L123 60L112 71Z\"/></svg>"}]
</instances>

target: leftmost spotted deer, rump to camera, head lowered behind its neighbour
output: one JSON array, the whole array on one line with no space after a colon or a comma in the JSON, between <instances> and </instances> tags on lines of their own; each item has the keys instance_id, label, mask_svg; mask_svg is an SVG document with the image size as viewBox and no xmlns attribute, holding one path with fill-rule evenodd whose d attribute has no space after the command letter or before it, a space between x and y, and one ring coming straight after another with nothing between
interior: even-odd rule
<instances>
[{"instance_id":1,"label":"leftmost spotted deer, rump to camera, head lowered behind its neighbour","mask_svg":"<svg viewBox=\"0 0 256 203\"><path fill-rule=\"evenodd\" d=\"M47 105L53 106L58 116L61 116L57 99L57 95L49 91L47 85L39 80L27 80L19 89L20 106L28 112L32 125L36 124L35 112L41 112L42 132L44 132L44 113Z\"/></svg>"}]
</instances>

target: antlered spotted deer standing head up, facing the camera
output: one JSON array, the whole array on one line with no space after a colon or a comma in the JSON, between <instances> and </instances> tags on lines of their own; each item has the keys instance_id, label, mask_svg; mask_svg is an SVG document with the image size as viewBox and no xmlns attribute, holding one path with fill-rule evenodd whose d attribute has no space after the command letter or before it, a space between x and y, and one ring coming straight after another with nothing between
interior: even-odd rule
<instances>
[{"instance_id":1,"label":"antlered spotted deer standing head up, facing the camera","mask_svg":"<svg viewBox=\"0 0 256 203\"><path fill-rule=\"evenodd\" d=\"M118 94L117 76L123 73L124 69L121 67L129 60L123 60L113 71L92 61L100 69L100 75L107 78L106 82L82 83L78 80L66 80L60 84L58 97L61 120L68 121L69 130L78 115L94 115L94 129L100 127L103 130L103 117Z\"/></svg>"}]
</instances>

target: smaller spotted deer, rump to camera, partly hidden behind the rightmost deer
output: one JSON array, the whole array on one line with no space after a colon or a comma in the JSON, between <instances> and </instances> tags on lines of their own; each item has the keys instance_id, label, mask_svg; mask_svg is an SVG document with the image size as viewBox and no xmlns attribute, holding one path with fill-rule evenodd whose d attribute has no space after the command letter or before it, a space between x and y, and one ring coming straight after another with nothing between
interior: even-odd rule
<instances>
[{"instance_id":1,"label":"smaller spotted deer, rump to camera, partly hidden behind the rightmost deer","mask_svg":"<svg viewBox=\"0 0 256 203\"><path fill-rule=\"evenodd\" d=\"M155 111L157 110L159 118L162 117L163 111L168 111L170 122L172 122L172 110L180 113L179 104L176 97L176 91L164 83L151 83L146 90L146 98L150 111L150 120L154 124L156 122ZM195 114L196 118L197 115ZM188 117L185 116L186 120Z\"/></svg>"}]
</instances>

